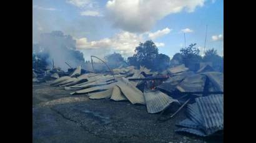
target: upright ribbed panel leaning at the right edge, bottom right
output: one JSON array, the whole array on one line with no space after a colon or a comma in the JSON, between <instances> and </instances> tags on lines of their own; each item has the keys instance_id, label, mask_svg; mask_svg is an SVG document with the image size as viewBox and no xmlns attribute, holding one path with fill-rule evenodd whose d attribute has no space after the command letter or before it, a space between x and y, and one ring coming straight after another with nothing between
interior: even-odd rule
<instances>
[{"instance_id":1,"label":"upright ribbed panel leaning at the right edge, bottom right","mask_svg":"<svg viewBox=\"0 0 256 143\"><path fill-rule=\"evenodd\" d=\"M204 120L204 131L206 134L213 134L224 128L223 95L210 95L202 98L196 98L199 111Z\"/></svg>"}]
</instances>

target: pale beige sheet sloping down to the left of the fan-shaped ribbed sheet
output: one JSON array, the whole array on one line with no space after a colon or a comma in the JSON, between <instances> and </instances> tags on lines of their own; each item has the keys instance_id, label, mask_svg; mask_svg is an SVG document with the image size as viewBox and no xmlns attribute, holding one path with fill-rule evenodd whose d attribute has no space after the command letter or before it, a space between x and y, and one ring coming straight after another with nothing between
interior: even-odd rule
<instances>
[{"instance_id":1,"label":"pale beige sheet sloping down to the left of the fan-shaped ribbed sheet","mask_svg":"<svg viewBox=\"0 0 256 143\"><path fill-rule=\"evenodd\" d=\"M126 78L118 79L116 85L119 86L122 93L124 93L124 96L129 99L130 103L145 104L143 93L134 85L132 85L132 83L130 83Z\"/></svg>"}]
</instances>

